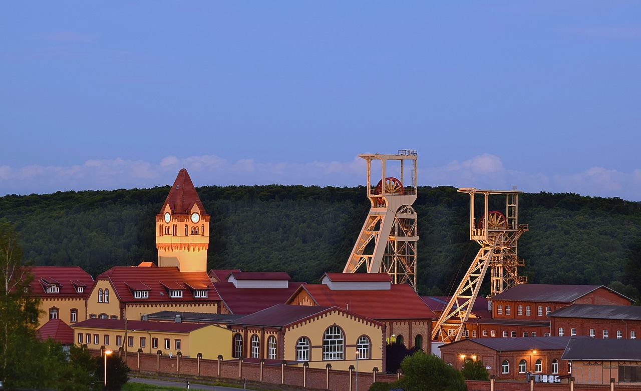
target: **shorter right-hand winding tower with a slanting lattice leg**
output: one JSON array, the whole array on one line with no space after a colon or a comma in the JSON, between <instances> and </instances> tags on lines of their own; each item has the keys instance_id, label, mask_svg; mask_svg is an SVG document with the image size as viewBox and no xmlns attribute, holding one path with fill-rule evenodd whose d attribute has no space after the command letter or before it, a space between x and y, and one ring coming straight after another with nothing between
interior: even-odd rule
<instances>
[{"instance_id":1,"label":"shorter right-hand winding tower with a slanting lattice leg","mask_svg":"<svg viewBox=\"0 0 641 391\"><path fill-rule=\"evenodd\" d=\"M470 240L480 244L481 249L432 328L432 340L442 342L461 339L464 323L469 319L488 268L489 297L517 284L527 283L525 277L519 276L518 267L524 266L524 262L517 255L519 238L528 230L527 224L519 224L519 194L522 192L515 188L506 191L460 188L458 191L470 195ZM476 195L483 196L484 201L479 219L474 213ZM504 212L490 210L490 195L504 197Z\"/></svg>"}]
</instances>

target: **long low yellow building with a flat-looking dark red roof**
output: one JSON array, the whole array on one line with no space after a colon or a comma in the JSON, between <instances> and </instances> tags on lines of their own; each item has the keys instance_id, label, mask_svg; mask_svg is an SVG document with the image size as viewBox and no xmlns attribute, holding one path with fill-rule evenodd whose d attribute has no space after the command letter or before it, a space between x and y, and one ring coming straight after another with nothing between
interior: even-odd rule
<instances>
[{"instance_id":1,"label":"long low yellow building with a flat-looking dark red roof","mask_svg":"<svg viewBox=\"0 0 641 391\"><path fill-rule=\"evenodd\" d=\"M231 331L213 324L145 322L143 320L88 319L73 324L76 344L89 349L106 349L137 353L158 353L215 360L219 354L230 358Z\"/></svg>"}]
</instances>

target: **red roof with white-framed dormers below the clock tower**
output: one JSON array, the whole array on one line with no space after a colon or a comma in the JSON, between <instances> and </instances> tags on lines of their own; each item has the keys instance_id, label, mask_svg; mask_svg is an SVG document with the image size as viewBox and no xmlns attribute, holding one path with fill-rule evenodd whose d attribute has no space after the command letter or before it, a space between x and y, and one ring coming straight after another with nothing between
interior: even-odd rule
<instances>
[{"instance_id":1,"label":"red roof with white-framed dormers below the clock tower","mask_svg":"<svg viewBox=\"0 0 641 391\"><path fill-rule=\"evenodd\" d=\"M178 267L117 266L96 278L96 280L101 279L110 281L121 302L198 301L208 303L220 300L219 295L211 289L212 281L206 272L181 272ZM170 298L167 289L178 289L178 287L190 287L190 289L183 290L183 297ZM135 299L133 294L135 290L147 290L149 297ZM194 298L193 290L208 290L208 297Z\"/></svg>"}]
</instances>

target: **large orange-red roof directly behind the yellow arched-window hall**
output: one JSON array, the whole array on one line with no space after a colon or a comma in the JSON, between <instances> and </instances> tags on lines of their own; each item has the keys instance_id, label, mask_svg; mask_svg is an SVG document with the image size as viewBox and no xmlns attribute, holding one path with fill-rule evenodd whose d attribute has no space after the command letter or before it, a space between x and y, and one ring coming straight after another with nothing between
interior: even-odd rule
<instances>
[{"instance_id":1,"label":"large orange-red roof directly behind the yellow arched-window hall","mask_svg":"<svg viewBox=\"0 0 641 391\"><path fill-rule=\"evenodd\" d=\"M374 320L436 318L407 284L392 284L389 290L330 290L323 284L304 284L287 303L303 290L319 306L337 306Z\"/></svg>"}]
</instances>

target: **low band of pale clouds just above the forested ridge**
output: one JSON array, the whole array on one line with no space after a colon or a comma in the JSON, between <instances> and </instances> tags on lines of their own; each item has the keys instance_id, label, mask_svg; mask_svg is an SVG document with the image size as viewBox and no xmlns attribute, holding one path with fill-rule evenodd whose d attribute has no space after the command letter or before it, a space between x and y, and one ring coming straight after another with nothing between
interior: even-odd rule
<instances>
[{"instance_id":1,"label":"low band of pale clouds just above the forested ridge","mask_svg":"<svg viewBox=\"0 0 641 391\"><path fill-rule=\"evenodd\" d=\"M111 190L169 185L186 168L196 186L284 185L356 186L365 183L365 160L354 156L344 162L260 162L253 158L236 161L209 154L166 156L160 162L144 160L87 160L80 165L26 167L0 166L3 194L46 194L58 190ZM429 166L419 156L419 185L476 187L524 192L573 192L581 195L641 200L641 169L620 172L590 167L569 175L546 176L505 167L499 156L483 153L468 160Z\"/></svg>"}]
</instances>

